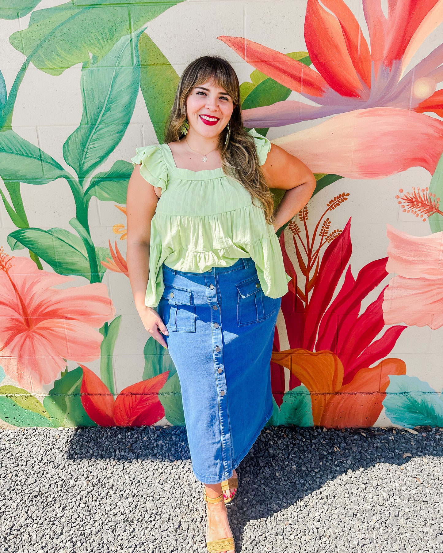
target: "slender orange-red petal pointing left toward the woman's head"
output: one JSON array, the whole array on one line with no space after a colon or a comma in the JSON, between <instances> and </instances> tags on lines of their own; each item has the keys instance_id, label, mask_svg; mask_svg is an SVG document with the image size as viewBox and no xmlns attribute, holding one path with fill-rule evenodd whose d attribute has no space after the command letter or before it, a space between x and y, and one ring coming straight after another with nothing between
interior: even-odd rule
<instances>
[{"instance_id":1,"label":"slender orange-red petal pointing left toward the woman's head","mask_svg":"<svg viewBox=\"0 0 443 553\"><path fill-rule=\"evenodd\" d=\"M230 46L255 69L291 90L316 97L323 96L324 92L329 90L323 77L301 61L288 58L285 54L241 36L218 36L217 38Z\"/></svg>"}]
</instances>

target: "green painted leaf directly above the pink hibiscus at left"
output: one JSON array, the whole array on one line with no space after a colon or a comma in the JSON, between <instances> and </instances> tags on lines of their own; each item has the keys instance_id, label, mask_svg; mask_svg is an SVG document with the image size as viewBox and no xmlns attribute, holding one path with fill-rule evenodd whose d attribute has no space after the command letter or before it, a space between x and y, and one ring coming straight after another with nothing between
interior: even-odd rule
<instances>
[{"instance_id":1,"label":"green painted leaf directly above the pink hibiscus at left","mask_svg":"<svg viewBox=\"0 0 443 553\"><path fill-rule=\"evenodd\" d=\"M89 259L83 241L63 228L22 228L7 237L11 251L28 248L60 275L91 278ZM105 248L103 248L105 249Z\"/></svg>"}]
</instances>

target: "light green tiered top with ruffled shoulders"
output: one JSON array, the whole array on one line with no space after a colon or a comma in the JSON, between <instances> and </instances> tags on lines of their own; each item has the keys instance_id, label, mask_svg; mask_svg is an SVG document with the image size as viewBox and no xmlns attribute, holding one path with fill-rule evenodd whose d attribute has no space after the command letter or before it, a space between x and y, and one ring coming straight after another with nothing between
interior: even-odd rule
<instances>
[{"instance_id":1,"label":"light green tiered top with ruffled shoulders","mask_svg":"<svg viewBox=\"0 0 443 553\"><path fill-rule=\"evenodd\" d=\"M271 143L255 129L249 134L263 165ZM151 222L147 306L156 307L162 297L162 263L178 271L204 273L251 257L264 294L280 298L287 293L291 277L285 272L274 227L239 181L222 168L178 169L167 144L136 152L132 164L141 164L142 177L162 189Z\"/></svg>"}]
</instances>

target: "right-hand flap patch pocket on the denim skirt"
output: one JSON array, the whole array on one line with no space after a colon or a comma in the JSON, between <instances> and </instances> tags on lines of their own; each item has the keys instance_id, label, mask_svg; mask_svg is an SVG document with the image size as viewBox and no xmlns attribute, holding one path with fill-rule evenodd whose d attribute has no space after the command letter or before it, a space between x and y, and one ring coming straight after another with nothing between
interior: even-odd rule
<instances>
[{"instance_id":1,"label":"right-hand flap patch pocket on the denim skirt","mask_svg":"<svg viewBox=\"0 0 443 553\"><path fill-rule=\"evenodd\" d=\"M236 285L238 290L237 322L239 326L253 325L275 313L275 300L266 296L257 276Z\"/></svg>"}]
</instances>

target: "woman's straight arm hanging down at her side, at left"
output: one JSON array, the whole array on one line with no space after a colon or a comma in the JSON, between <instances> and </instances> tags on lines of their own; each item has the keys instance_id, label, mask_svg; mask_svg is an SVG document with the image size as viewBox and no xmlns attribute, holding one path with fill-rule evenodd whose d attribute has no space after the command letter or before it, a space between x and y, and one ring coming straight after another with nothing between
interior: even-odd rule
<instances>
[{"instance_id":1,"label":"woman's straight arm hanging down at her side, at left","mask_svg":"<svg viewBox=\"0 0 443 553\"><path fill-rule=\"evenodd\" d=\"M160 192L161 189L143 179L140 174L140 165L136 165L128 184L126 262L132 295L143 325L157 342L167 347L160 332L168 335L166 326L157 311L153 307L145 305L149 278L151 221L156 211Z\"/></svg>"}]
</instances>

